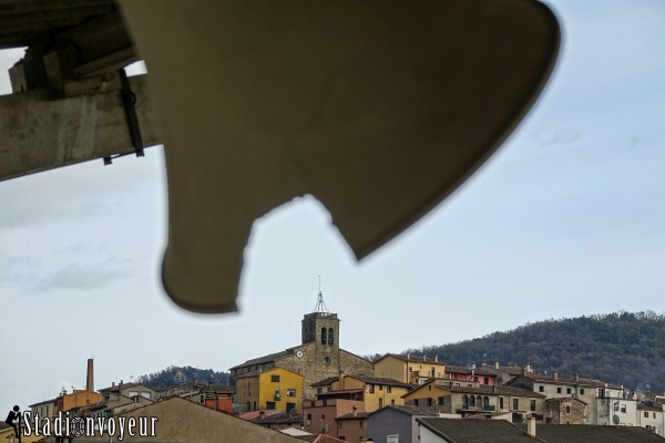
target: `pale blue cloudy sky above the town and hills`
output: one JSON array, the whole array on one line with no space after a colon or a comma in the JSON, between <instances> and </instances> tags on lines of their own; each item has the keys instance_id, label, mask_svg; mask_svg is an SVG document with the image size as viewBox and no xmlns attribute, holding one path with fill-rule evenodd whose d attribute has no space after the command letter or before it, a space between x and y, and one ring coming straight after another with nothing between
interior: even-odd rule
<instances>
[{"instance_id":1,"label":"pale blue cloudy sky above the town and hills","mask_svg":"<svg viewBox=\"0 0 665 443\"><path fill-rule=\"evenodd\" d=\"M563 31L559 64L484 167L361 264L314 198L275 209L254 226L235 315L191 315L163 295L161 147L0 183L0 324L14 343L0 411L82 388L92 353L102 388L170 364L227 370L297 344L319 275L341 346L360 354L548 318L664 311L665 3L549 4ZM0 52L0 74L17 56Z\"/></svg>"}]
</instances>

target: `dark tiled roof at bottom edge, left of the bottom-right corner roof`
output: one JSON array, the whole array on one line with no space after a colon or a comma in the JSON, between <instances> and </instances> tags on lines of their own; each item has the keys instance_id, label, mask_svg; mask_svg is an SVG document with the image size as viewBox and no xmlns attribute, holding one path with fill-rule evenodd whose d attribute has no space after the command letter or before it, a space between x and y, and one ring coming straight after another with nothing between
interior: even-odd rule
<instances>
[{"instance_id":1,"label":"dark tiled roof at bottom edge, left of the bottom-right corner roof","mask_svg":"<svg viewBox=\"0 0 665 443\"><path fill-rule=\"evenodd\" d=\"M520 427L505 420L417 419L426 429L449 443L533 443ZM571 426L572 427L572 426Z\"/></svg>"}]
</instances>

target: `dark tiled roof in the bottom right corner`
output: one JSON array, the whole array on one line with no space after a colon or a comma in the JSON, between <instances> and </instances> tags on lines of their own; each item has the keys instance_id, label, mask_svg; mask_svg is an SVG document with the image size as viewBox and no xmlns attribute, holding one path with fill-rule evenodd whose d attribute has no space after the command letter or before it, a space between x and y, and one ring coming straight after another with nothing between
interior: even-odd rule
<instances>
[{"instance_id":1,"label":"dark tiled roof in the bottom right corner","mask_svg":"<svg viewBox=\"0 0 665 443\"><path fill-rule=\"evenodd\" d=\"M535 434L549 443L663 443L662 436L638 426L536 424Z\"/></svg>"}]
</instances>

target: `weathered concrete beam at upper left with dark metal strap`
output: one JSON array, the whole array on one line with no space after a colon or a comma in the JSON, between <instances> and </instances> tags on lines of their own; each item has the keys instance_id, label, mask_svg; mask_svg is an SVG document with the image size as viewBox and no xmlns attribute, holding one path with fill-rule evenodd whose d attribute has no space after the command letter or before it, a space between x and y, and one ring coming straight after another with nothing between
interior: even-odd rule
<instances>
[{"instance_id":1,"label":"weathered concrete beam at upper left with dark metal strap","mask_svg":"<svg viewBox=\"0 0 665 443\"><path fill-rule=\"evenodd\" d=\"M146 76L130 78L144 147L162 143ZM0 181L133 152L119 89L50 100L52 92L0 96Z\"/></svg>"}]
</instances>

